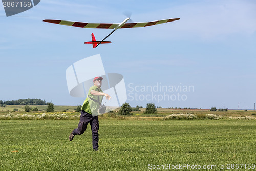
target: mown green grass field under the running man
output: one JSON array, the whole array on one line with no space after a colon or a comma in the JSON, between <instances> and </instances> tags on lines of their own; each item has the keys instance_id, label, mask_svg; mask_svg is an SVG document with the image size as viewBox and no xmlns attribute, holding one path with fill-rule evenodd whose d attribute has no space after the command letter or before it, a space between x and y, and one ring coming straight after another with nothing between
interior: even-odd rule
<instances>
[{"instance_id":1,"label":"mown green grass field under the running man","mask_svg":"<svg viewBox=\"0 0 256 171\"><path fill-rule=\"evenodd\" d=\"M256 164L255 120L100 119L98 152L92 150L89 125L83 135L68 141L78 122L0 120L0 170L148 170L148 164Z\"/></svg>"}]
</instances>

